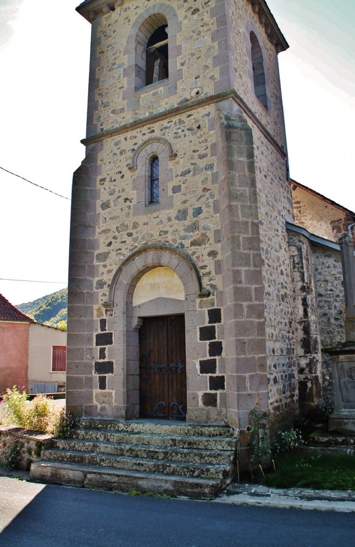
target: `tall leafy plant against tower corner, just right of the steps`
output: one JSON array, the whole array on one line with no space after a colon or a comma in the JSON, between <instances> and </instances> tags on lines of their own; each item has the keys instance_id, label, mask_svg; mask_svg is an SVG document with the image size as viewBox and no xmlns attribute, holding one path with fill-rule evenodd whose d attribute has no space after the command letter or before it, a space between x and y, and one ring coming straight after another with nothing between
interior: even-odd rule
<instances>
[{"instance_id":1,"label":"tall leafy plant against tower corner, just right of the steps","mask_svg":"<svg viewBox=\"0 0 355 547\"><path fill-rule=\"evenodd\" d=\"M250 461L253 469L263 469L267 465L270 454L270 436L268 424L268 412L261 412L257 406L250 412L251 425L248 426Z\"/></svg>"}]
</instances>

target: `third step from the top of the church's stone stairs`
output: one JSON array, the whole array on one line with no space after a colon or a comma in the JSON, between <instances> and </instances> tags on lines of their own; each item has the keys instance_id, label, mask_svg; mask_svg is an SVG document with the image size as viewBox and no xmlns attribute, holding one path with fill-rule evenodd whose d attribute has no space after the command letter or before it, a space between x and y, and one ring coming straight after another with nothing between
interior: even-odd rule
<instances>
[{"instance_id":1,"label":"third step from the top of the church's stone stairs","mask_svg":"<svg viewBox=\"0 0 355 547\"><path fill-rule=\"evenodd\" d=\"M230 465L234 452L230 450L200 450L182 449L176 447L161 447L127 443L110 443L105 441L56 439L53 448L67 451L82 451L97 454L128 456L131 458L149 458L164 461L210 463Z\"/></svg>"}]
</instances>

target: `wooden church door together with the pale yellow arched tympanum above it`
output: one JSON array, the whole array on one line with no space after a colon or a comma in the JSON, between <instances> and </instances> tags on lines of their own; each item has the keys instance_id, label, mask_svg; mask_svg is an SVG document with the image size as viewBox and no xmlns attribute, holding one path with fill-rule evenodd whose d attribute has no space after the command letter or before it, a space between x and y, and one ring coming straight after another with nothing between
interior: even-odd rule
<instances>
[{"instance_id":1,"label":"wooden church door together with the pale yellow arched tympanum above it","mask_svg":"<svg viewBox=\"0 0 355 547\"><path fill-rule=\"evenodd\" d=\"M143 319L139 329L142 418L186 420L185 315L179 314L184 300L179 276L167 267L147 272L135 287L133 309Z\"/></svg>"}]
</instances>

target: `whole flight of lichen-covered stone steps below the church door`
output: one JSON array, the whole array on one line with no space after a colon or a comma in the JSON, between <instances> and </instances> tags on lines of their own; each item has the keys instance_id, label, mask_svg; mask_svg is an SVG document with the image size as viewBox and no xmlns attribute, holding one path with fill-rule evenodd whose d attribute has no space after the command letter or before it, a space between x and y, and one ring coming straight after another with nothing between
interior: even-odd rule
<instances>
[{"instance_id":1,"label":"whole flight of lichen-covered stone steps below the church door","mask_svg":"<svg viewBox=\"0 0 355 547\"><path fill-rule=\"evenodd\" d=\"M31 479L211 499L235 474L237 442L226 426L78 420L42 450Z\"/></svg>"}]
</instances>

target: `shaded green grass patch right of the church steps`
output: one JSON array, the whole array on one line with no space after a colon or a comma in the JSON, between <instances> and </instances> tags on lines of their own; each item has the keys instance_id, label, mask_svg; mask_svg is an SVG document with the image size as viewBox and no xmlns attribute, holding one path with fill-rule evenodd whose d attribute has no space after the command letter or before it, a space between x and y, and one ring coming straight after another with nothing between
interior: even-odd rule
<instances>
[{"instance_id":1,"label":"shaded green grass patch right of the church steps","mask_svg":"<svg viewBox=\"0 0 355 547\"><path fill-rule=\"evenodd\" d=\"M355 490L355 457L281 453L275 458L276 473L262 480L273 488Z\"/></svg>"}]
</instances>

